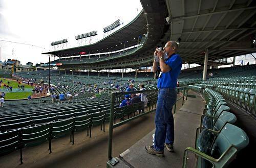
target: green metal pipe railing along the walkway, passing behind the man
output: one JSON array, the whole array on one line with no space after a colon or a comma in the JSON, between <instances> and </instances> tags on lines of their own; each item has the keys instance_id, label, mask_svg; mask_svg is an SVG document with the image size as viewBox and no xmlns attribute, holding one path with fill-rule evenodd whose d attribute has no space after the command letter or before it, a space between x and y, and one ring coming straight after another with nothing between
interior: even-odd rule
<instances>
[{"instance_id":1,"label":"green metal pipe railing along the walkway, passing behind the man","mask_svg":"<svg viewBox=\"0 0 256 168\"><path fill-rule=\"evenodd\" d=\"M182 90L183 92L183 95L182 97L180 97L179 99L176 100L176 103L182 99L182 105L184 104L184 100L185 100L185 97L186 97L186 100L187 100L187 86L183 86L183 87L177 87L176 90ZM114 124L114 108L115 108L115 103L117 102L116 98L120 98L122 97L123 95L125 94L136 94L136 93L152 93L152 92L155 92L157 93L158 92L158 89L153 89L153 90L141 90L141 91L129 91L129 92L112 92L111 93L111 108L110 108L110 123L109 123L109 149L108 149L108 162L107 162L107 167L110 167L111 165L114 166L118 163L118 159L117 158L113 158L112 157L112 139L113 139L113 129L114 128L117 128L127 122L130 122L136 118L139 118L141 116L144 116L148 113L151 113L151 112L154 112L156 111L156 108L153 108L153 109L150 109L144 113L141 113L141 114L138 114L134 117L131 117L131 118L128 118L128 119L125 119L124 121L121 121L117 124ZM174 113L176 112L176 103L174 105Z\"/></svg>"}]
</instances>

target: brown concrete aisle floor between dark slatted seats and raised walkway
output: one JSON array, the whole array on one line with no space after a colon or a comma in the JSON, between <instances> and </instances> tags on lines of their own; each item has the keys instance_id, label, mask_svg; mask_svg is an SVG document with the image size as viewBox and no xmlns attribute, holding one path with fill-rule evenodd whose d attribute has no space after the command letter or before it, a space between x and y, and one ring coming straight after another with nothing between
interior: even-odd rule
<instances>
[{"instance_id":1,"label":"brown concrete aisle floor between dark slatted seats and raised walkway","mask_svg":"<svg viewBox=\"0 0 256 168\"><path fill-rule=\"evenodd\" d=\"M181 103L182 101L177 103L177 109L181 107ZM113 156L118 156L154 130L154 118L155 113L150 113L115 128L113 131ZM1 156L0 167L106 167L108 136L108 124L105 125L105 132L100 131L100 127L95 127L92 128L91 138L87 136L87 131L75 133L74 145L70 142L69 137L54 139L51 154L48 151L48 143L23 149L24 164L22 165L19 164L19 151Z\"/></svg>"}]
</instances>

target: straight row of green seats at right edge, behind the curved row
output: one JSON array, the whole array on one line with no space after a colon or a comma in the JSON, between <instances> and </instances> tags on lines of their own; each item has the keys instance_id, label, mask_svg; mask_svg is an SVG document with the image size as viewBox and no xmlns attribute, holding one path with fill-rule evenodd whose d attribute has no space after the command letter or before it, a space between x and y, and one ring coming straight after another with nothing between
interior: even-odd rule
<instances>
[{"instance_id":1,"label":"straight row of green seats at right edge, behind the curved row","mask_svg":"<svg viewBox=\"0 0 256 168\"><path fill-rule=\"evenodd\" d=\"M242 109L256 115L256 89L244 87L218 86L216 90L226 99Z\"/></svg>"}]
</instances>

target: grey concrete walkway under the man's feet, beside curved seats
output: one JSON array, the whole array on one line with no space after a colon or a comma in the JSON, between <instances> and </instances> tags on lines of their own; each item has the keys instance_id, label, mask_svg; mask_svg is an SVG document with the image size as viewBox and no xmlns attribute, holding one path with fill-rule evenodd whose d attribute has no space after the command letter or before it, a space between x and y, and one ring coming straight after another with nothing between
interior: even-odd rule
<instances>
[{"instance_id":1,"label":"grey concrete walkway under the man's feet, beside curved seats","mask_svg":"<svg viewBox=\"0 0 256 168\"><path fill-rule=\"evenodd\" d=\"M184 105L176 112L175 118L175 152L170 153L166 149L165 157L160 158L147 154L144 147L152 143L153 130L140 139L135 145L121 153L118 157L119 163L113 167L181 167L184 149L194 147L196 129L200 126L201 115L205 106L201 95L195 92L196 98L187 98ZM188 156L189 167L195 165L195 155Z\"/></svg>"}]
</instances>

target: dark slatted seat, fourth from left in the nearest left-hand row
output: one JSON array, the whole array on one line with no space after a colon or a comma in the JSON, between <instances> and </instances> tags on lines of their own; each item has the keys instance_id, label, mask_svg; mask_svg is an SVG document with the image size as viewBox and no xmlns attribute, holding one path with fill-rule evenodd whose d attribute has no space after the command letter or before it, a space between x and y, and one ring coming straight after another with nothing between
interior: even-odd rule
<instances>
[{"instance_id":1,"label":"dark slatted seat, fourth from left in the nearest left-hand row","mask_svg":"<svg viewBox=\"0 0 256 168\"><path fill-rule=\"evenodd\" d=\"M83 131L87 129L87 135L89 135L90 130L90 137L91 137L91 123L92 123L92 114L86 114L81 116L76 116L74 118L74 131Z\"/></svg>"}]
</instances>

